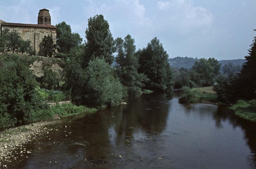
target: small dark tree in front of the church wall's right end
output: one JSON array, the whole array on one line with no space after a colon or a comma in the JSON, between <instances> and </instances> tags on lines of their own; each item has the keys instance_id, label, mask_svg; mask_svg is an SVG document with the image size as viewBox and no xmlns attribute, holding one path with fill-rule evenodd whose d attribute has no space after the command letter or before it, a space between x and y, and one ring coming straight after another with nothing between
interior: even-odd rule
<instances>
[{"instance_id":1,"label":"small dark tree in front of the church wall's right end","mask_svg":"<svg viewBox=\"0 0 256 169\"><path fill-rule=\"evenodd\" d=\"M44 36L42 40L42 46L44 48L45 55L48 57L52 57L52 55L56 54L57 45L53 44L52 36Z\"/></svg>"}]
</instances>

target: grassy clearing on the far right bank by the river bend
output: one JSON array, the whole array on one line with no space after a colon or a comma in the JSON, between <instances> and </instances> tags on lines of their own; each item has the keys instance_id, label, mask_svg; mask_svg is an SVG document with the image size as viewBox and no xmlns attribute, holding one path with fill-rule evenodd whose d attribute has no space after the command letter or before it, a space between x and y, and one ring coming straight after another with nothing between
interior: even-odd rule
<instances>
[{"instance_id":1,"label":"grassy clearing on the far right bank by the river bend","mask_svg":"<svg viewBox=\"0 0 256 169\"><path fill-rule=\"evenodd\" d=\"M218 95L213 91L213 87L203 88L184 88L182 96L179 98L180 102L195 103L195 102L218 102Z\"/></svg>"}]
</instances>

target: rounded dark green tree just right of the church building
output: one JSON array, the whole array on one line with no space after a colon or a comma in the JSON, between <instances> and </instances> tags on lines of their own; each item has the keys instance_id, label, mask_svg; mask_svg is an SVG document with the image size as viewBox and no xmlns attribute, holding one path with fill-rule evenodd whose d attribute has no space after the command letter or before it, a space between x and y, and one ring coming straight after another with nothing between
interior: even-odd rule
<instances>
[{"instance_id":1,"label":"rounded dark green tree just right of the church building","mask_svg":"<svg viewBox=\"0 0 256 169\"><path fill-rule=\"evenodd\" d=\"M69 53L71 48L81 45L83 39L78 33L72 33L70 25L66 22L57 24L56 28L59 53Z\"/></svg>"}]
</instances>

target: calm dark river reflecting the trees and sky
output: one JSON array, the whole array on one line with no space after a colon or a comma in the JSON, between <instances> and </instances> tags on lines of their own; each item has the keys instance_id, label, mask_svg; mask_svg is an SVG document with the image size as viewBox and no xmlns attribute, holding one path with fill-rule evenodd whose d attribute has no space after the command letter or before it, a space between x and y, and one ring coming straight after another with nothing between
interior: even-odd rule
<instances>
[{"instance_id":1,"label":"calm dark river reflecting the trees and sky","mask_svg":"<svg viewBox=\"0 0 256 169\"><path fill-rule=\"evenodd\" d=\"M8 168L256 168L255 123L224 106L180 104L179 95L64 118Z\"/></svg>"}]
</instances>

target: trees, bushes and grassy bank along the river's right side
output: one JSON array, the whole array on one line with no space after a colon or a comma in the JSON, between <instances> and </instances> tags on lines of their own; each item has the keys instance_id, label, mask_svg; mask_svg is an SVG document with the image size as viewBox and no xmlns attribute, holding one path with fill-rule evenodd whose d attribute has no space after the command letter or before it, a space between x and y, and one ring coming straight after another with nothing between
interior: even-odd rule
<instances>
[{"instance_id":1,"label":"trees, bushes and grassy bank along the river's right side","mask_svg":"<svg viewBox=\"0 0 256 169\"><path fill-rule=\"evenodd\" d=\"M256 31L256 30L255 30ZM233 104L235 115L256 121L256 37L242 68L229 63L222 67L214 59L199 59L191 69L172 68L174 88L187 86L180 102L222 102ZM213 86L213 91L195 87ZM192 88L192 89L190 89ZM201 90L201 92L200 92ZM204 90L202 92L202 90Z\"/></svg>"}]
</instances>

